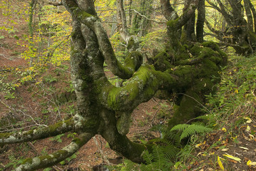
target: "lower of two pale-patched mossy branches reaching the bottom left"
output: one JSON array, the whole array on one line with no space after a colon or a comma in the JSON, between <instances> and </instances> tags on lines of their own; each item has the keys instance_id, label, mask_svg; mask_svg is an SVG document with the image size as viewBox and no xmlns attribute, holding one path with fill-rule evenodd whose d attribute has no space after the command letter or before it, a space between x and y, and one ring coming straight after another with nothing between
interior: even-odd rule
<instances>
[{"instance_id":1,"label":"lower of two pale-patched mossy branches reaching the bottom left","mask_svg":"<svg viewBox=\"0 0 256 171\"><path fill-rule=\"evenodd\" d=\"M28 171L28 170L39 170L41 168L51 167L56 165L58 162L65 160L67 157L73 155L83 145L93 137L91 133L83 133L78 138L74 138L73 141L62 150L53 152L51 155L42 155L39 157L26 159L16 171Z\"/></svg>"}]
</instances>

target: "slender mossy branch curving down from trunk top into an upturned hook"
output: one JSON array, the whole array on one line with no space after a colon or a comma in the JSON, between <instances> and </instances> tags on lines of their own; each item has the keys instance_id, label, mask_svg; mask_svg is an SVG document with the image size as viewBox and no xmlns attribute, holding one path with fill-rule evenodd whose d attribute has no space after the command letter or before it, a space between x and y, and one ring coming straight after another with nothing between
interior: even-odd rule
<instances>
[{"instance_id":1,"label":"slender mossy branch curving down from trunk top into an upturned hook","mask_svg":"<svg viewBox=\"0 0 256 171\"><path fill-rule=\"evenodd\" d=\"M127 57L125 64L122 65L113 51L111 42L108 39L108 34L101 25L100 19L97 16L88 14L86 11L81 10L75 2L65 1L65 6L68 11L71 12L73 17L75 17L79 22L85 24L93 30L98 39L99 50L103 54L105 62L111 72L123 79L128 79L133 76L133 73L138 69L138 66L142 63L142 56L140 53L130 53Z\"/></svg>"}]
</instances>

